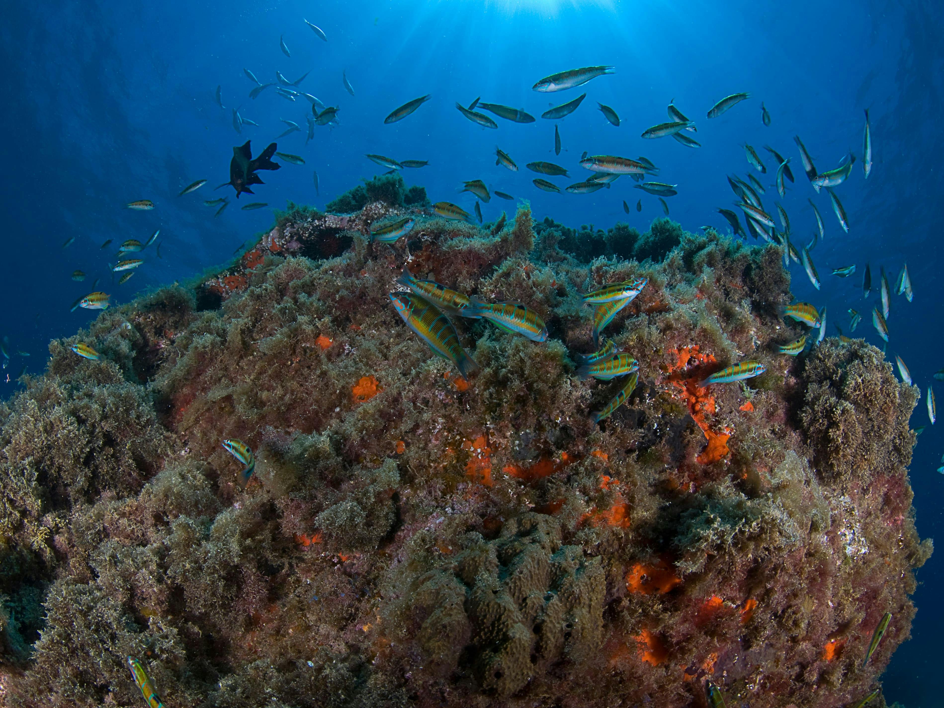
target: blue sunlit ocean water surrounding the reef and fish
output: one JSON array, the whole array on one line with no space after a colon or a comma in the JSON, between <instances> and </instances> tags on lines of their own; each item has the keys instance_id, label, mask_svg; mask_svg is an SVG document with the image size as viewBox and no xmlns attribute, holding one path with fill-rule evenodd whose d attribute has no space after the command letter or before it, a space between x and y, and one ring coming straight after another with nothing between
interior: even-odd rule
<instances>
[{"instance_id":1,"label":"blue sunlit ocean water surrounding the reef and fish","mask_svg":"<svg viewBox=\"0 0 944 708\"><path fill-rule=\"evenodd\" d=\"M548 194L531 184L541 177L526 162L549 160L570 170L570 179L550 178L562 188L582 180L584 150L626 157L644 155L661 168L661 181L678 184L667 201L671 218L684 228L725 228L716 208L732 208L728 174L751 172L742 145L758 148L767 164L759 177L772 201L775 170L763 145L791 158L797 177L782 203L795 241L806 243L815 228L807 199L813 198L826 224L826 237L813 251L822 289L816 291L801 267L792 266L795 294L828 306L829 319L848 333L849 308L863 314L856 335L881 346L869 323L876 291L862 295L861 273L871 265L873 283L884 266L894 278L907 261L915 299L893 296L888 355L907 362L925 390L944 366L937 349L944 330L940 305L944 224L939 169L944 137L938 116L944 109L944 4L900 0L835 0L764 6L745 0L717 3L629 3L607 0L452 0L450 2L290 2L131 4L115 0L3 4L0 59L4 108L0 111L0 156L5 165L0 216L7 256L0 262L8 307L0 334L9 338L12 359L2 383L5 396L15 377L42 371L50 338L73 333L95 312L69 312L79 295L100 276L106 291L122 302L147 288L193 278L227 261L235 248L272 223L270 210L241 211L249 201L284 208L286 201L324 207L362 177L383 170L365 153L396 160L429 160L404 170L408 184L427 188L432 201L452 201L472 211L474 197L457 194L464 180L482 179L493 190L530 200L538 219L550 216L567 226L610 228L617 221L641 230L662 216L655 196L621 177L595 194ZM321 41L305 24L324 29ZM291 52L279 49L279 37ZM615 76L561 93L535 93L533 83L580 66L615 66ZM305 144L310 104L289 102L268 89L253 100L254 84L278 70L290 80L311 74L300 90L340 107L339 126L318 126ZM354 87L346 92L342 72ZM221 109L214 100L221 86ZM721 97L750 92L750 99L723 116L705 113ZM527 125L496 118L498 129L475 126L458 110L477 96L539 116L580 93L581 108L559 121ZM383 118L408 100L431 99L393 125ZM643 140L644 129L668 120L674 99L694 119L701 147L689 149L669 138ZM771 125L761 120L761 102ZM613 107L622 125L609 125L598 103ZM259 126L237 134L232 109ZM861 169L864 110L869 110L874 165ZM252 140L255 153L285 129L280 119L303 130L278 140L278 149L300 155L304 166L283 164L262 174L256 195L232 198L231 189L212 192L228 179L232 147ZM563 150L555 157L554 125ZM793 136L799 135L820 170L837 166L851 150L859 161L836 189L849 215L845 233L825 194L815 194L803 177ZM501 147L518 163L512 173L495 164ZM315 193L312 171L319 177ZM198 178L207 185L177 196ZM228 195L221 216L204 199ZM248 197L248 198L246 198ZM129 211L126 202L152 199L154 211ZM626 200L631 211L623 211ZM634 205L642 200L643 210ZM483 205L486 220L511 202L493 197ZM150 253L140 272L112 285L108 263L114 246L145 240L160 228L161 258ZM68 239L75 242L62 247ZM106 249L100 244L113 243ZM153 247L153 246L152 246ZM830 275L855 263L851 278ZM84 282L70 278L81 269ZM830 326L830 333L834 329ZM24 351L25 358L14 352ZM4 376L6 378L6 376ZM944 383L938 383L944 396ZM944 402L944 397L941 397ZM912 425L926 425L923 400ZM919 438L911 468L922 537L944 531L936 473L944 452L944 430L929 427ZM939 557L919 571L915 601L919 614L913 638L896 653L885 674L885 696L908 708L939 704L936 687L944 633L944 586Z\"/></svg>"}]
</instances>

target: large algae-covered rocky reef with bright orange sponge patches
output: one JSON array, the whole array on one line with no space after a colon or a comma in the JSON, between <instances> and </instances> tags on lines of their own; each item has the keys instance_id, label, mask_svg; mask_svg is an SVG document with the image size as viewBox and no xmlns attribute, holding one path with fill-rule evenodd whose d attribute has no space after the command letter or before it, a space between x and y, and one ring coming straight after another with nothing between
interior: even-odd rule
<instances>
[{"instance_id":1,"label":"large algae-covered rocky reef with bright orange sponge patches","mask_svg":"<svg viewBox=\"0 0 944 708\"><path fill-rule=\"evenodd\" d=\"M527 205L483 228L413 210L407 243L370 244L411 207L355 192L102 312L0 406L8 705L140 705L128 654L168 707L686 706L710 678L729 705L832 708L875 687L931 552L917 390L861 340L773 353L801 333L777 247ZM481 366L458 379L389 304L408 257L527 303L548 343L458 321ZM639 276L606 334L640 384L598 427L621 383L574 375L580 295ZM687 397L749 357L748 388ZM244 491L228 437L257 454Z\"/></svg>"}]
</instances>

